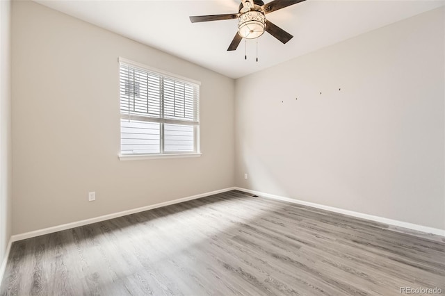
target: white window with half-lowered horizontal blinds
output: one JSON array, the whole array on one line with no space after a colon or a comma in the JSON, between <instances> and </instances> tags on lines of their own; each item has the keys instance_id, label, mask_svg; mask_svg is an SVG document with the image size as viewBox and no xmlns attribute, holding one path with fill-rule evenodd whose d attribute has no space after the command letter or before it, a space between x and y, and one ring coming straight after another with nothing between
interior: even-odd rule
<instances>
[{"instance_id":1,"label":"white window with half-lowered horizontal blinds","mask_svg":"<svg viewBox=\"0 0 445 296\"><path fill-rule=\"evenodd\" d=\"M121 156L199 154L200 83L119 63Z\"/></svg>"}]
</instances>

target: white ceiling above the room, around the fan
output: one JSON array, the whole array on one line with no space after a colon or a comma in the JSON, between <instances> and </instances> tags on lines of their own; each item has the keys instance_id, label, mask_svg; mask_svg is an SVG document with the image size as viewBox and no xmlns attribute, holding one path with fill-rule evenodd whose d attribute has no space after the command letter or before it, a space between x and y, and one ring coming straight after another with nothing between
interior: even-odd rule
<instances>
[{"instance_id":1,"label":"white ceiling above the room, around the fan","mask_svg":"<svg viewBox=\"0 0 445 296\"><path fill-rule=\"evenodd\" d=\"M66 1L35 0L150 47L161 49L234 79L401 19L444 6L444 0L307 0L266 15L294 37L282 44L268 33L227 51L235 19L192 24L191 15L238 13L235 0ZM265 3L270 2L268 0Z\"/></svg>"}]
</instances>

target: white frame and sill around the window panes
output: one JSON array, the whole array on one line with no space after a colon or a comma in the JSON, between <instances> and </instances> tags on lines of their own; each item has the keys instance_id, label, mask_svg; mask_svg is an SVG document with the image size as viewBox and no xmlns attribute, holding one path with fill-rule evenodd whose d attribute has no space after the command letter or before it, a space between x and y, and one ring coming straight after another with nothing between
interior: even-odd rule
<instances>
[{"instance_id":1,"label":"white frame and sill around the window panes","mask_svg":"<svg viewBox=\"0 0 445 296\"><path fill-rule=\"evenodd\" d=\"M160 76L162 76L162 81L164 78L167 79L173 79L175 81L179 81L179 82L186 82L186 83L193 83L195 85L197 85L197 104L198 104L198 112L200 110L199 107L199 103L200 103L200 85L201 82L200 81L196 81L193 79L189 79L187 77L184 76L180 76L177 74L173 74L170 72L166 72L162 69L156 69L154 67L150 67L147 65L144 65L142 63L138 63L135 62L133 60L129 60L127 58L122 58L119 57L118 58L118 71L119 71L119 83L118 85L120 85L121 83L121 74L120 74L120 67L121 64L126 64L126 65L130 65L133 67L137 67L139 69L144 69L147 70L147 72L154 72L154 74L159 74ZM119 104L121 104L121 94L120 94L120 87L118 88L118 92L119 92ZM164 104L164 95L163 92L161 93L161 105ZM164 110L161 110L161 113L163 113ZM122 113L122 110L120 109L119 112L120 115L120 120L133 117L135 118L135 120L137 120L138 115L127 115ZM182 121L182 120L169 120L168 118L156 118L156 117L152 117L151 120L143 120L145 122L159 122L160 126L159 126L159 133L160 133L160 138L159 138L159 153L141 153L141 154L122 154L122 127L120 124L120 149L119 149L119 159L121 161L127 161L127 160L143 160L143 159L154 159L154 158L188 158L188 157L200 157L202 155L202 153L200 152L200 120L199 117L197 118L197 124L191 124L193 125L193 147L194 147L194 151L186 151L186 152L178 152L178 151L165 151L164 147L165 147L165 138L164 138L164 124L177 124L179 122L186 122L186 120ZM187 124L184 124L187 125Z\"/></svg>"}]
</instances>

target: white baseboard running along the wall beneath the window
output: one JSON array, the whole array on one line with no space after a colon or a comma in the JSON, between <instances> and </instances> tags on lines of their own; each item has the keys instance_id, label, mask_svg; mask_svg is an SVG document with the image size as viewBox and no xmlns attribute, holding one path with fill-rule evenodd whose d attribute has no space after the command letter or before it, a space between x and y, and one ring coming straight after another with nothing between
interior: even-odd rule
<instances>
[{"instance_id":1,"label":"white baseboard running along the wall beneath the window","mask_svg":"<svg viewBox=\"0 0 445 296\"><path fill-rule=\"evenodd\" d=\"M202 193L200 195L193 195L193 196L190 196L190 197L183 197L183 198L180 198L180 199L170 200L168 202L161 202L159 204L152 204L152 205L149 205L149 206L143 206L143 207L140 207L140 208L133 208L131 210L122 211L122 212L118 212L118 213L111 213L111 214L108 214L108 215L94 217L94 218L90 218L90 219L86 219L86 220L71 222L71 223L67 223L67 224L61 224L61 225L58 225L58 226L48 227L48 228L44 228L44 229L38 229L38 230L35 230L35 231L29 231L29 232L25 232L25 233L20 233L20 234L16 234L14 236L11 236L10 241L11 242L16 242L17 240L26 240L26 238L34 238L35 236L42 236L42 235L48 234L48 233L53 233L53 232L62 231L62 230L66 230L66 229L72 229L74 227L79 227L79 226L88 225L88 224L92 224L92 223L96 223L96 222L110 220L110 219L117 218L117 217L131 215L131 214L134 214L134 213L148 211L148 210L151 210L152 208L161 208L163 206L170 206L171 204L179 204L180 202L187 202L188 200L198 199L198 198L201 198L201 197L207 197L209 195L216 195L218 193L227 192L227 191L234 190L234 189L235 189L234 187L225 188L225 189L221 189L221 190L216 190L216 191Z\"/></svg>"}]
</instances>

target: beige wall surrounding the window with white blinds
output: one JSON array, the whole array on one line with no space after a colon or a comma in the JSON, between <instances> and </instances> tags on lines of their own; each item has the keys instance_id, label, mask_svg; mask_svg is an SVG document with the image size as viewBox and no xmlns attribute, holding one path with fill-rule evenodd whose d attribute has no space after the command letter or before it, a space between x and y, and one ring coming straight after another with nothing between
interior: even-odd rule
<instances>
[{"instance_id":1,"label":"beige wall surrounding the window with white blinds","mask_svg":"<svg viewBox=\"0 0 445 296\"><path fill-rule=\"evenodd\" d=\"M232 79L37 3L12 19L13 233L234 186ZM200 158L118 160L119 56L202 82Z\"/></svg>"}]
</instances>

